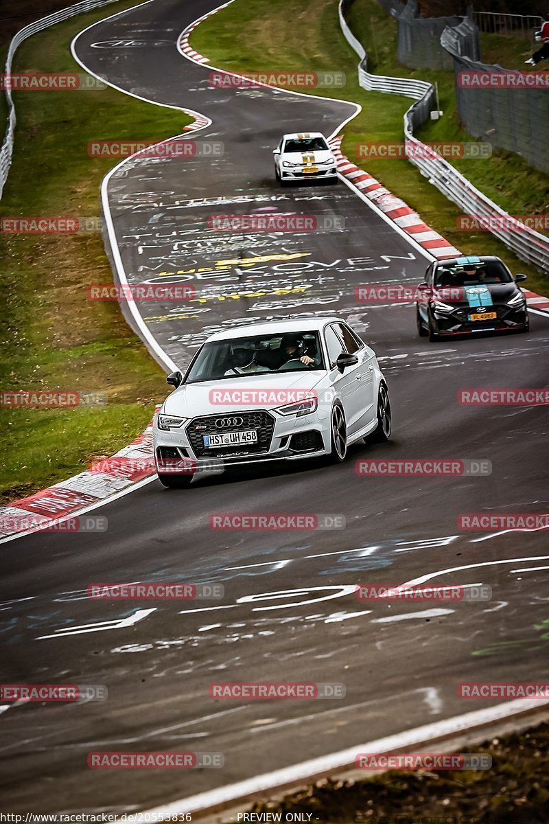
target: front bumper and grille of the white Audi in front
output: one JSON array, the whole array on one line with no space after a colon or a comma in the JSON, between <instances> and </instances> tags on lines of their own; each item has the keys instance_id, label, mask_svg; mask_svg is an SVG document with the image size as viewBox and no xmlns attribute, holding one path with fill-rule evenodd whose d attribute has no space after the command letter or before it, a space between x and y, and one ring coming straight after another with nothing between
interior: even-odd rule
<instances>
[{"instance_id":1,"label":"front bumper and grille of the white Audi in front","mask_svg":"<svg viewBox=\"0 0 549 824\"><path fill-rule=\"evenodd\" d=\"M327 454L331 449L329 416L319 410L300 418L283 416L270 410L239 413L243 424L230 431L255 429L257 444L228 448L203 446L203 435L219 432L215 420L221 413L201 415L181 428L165 432L153 425L156 471L160 474L219 473L230 466L245 466L269 461L298 461Z\"/></svg>"}]
</instances>

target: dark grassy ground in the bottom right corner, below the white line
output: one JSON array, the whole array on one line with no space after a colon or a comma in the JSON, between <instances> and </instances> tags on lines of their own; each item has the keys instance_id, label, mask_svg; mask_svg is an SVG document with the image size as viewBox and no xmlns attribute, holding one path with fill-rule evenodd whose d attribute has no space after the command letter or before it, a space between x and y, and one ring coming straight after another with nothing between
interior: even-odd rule
<instances>
[{"instance_id":1,"label":"dark grassy ground in the bottom right corner, below the white line","mask_svg":"<svg viewBox=\"0 0 549 824\"><path fill-rule=\"evenodd\" d=\"M391 770L368 780L327 780L250 812L310 813L340 824L547 824L549 724L468 747L488 754L490 770ZM436 748L433 748L436 750Z\"/></svg>"}]
</instances>

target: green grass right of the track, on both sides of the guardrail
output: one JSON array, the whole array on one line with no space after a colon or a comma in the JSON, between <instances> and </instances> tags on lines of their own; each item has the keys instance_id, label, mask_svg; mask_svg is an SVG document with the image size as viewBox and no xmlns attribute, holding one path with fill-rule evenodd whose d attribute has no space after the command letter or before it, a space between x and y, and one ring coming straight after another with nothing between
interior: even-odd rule
<instances>
[{"instance_id":1,"label":"green grass right of the track, on both sides of the guardrail","mask_svg":"<svg viewBox=\"0 0 549 824\"><path fill-rule=\"evenodd\" d=\"M439 82L445 115L438 123L421 130L419 136L422 139L472 139L459 129L451 112L453 73L415 72L398 66L396 23L375 0L356 0L349 20L352 30L370 53L373 72ZM460 209L430 185L406 159L363 159L359 162L356 143L402 141L402 116L410 101L400 96L367 92L359 87L357 57L340 30L337 0L286 0L283 15L270 0L235 0L202 22L193 31L191 43L194 49L207 55L212 65L233 71L273 68L345 72L347 85L344 89L306 91L361 104L360 115L345 127L342 151L347 157L404 199L463 253L500 255L512 271L528 274L528 288L547 293L547 277L516 258L488 232L458 232L456 221ZM542 213L547 205L547 177L529 168L518 157L498 153L489 160L462 161L456 166L513 213Z\"/></svg>"}]
</instances>

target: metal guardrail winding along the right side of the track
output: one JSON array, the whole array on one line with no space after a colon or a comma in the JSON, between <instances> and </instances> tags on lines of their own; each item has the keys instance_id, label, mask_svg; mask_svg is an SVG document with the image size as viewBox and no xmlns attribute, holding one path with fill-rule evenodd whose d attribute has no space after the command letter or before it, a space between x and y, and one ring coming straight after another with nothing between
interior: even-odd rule
<instances>
[{"instance_id":1,"label":"metal guardrail winding along the right side of the track","mask_svg":"<svg viewBox=\"0 0 549 824\"><path fill-rule=\"evenodd\" d=\"M385 94L400 94L416 99L404 115L404 140L414 147L421 147L413 152L414 157L408 160L419 168L429 182L445 194L447 198L463 208L469 215L482 215L485 218L501 219L508 222L512 218L509 213L500 208L486 194L482 194L471 181L464 177L444 157L430 151L425 143L414 137L414 129L430 116L435 108L435 87L425 81L411 80L406 77L381 77L368 72L368 55L364 46L352 34L345 21L345 11L352 0L339 0L339 22L347 43L361 58L358 67L358 82L366 91L381 91ZM358 47L358 48L357 48ZM421 156L421 157L418 157ZM521 231L505 227L491 227L491 234L505 243L521 260L549 271L549 238L535 232L529 227L521 227Z\"/></svg>"}]
</instances>

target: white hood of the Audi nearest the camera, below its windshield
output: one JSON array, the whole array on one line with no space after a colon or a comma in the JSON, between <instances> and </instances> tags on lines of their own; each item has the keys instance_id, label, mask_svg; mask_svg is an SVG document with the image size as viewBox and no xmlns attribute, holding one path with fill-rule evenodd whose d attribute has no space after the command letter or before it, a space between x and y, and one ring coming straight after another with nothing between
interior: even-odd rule
<instances>
[{"instance_id":1,"label":"white hood of the Audi nearest the camera, below its windshield","mask_svg":"<svg viewBox=\"0 0 549 824\"><path fill-rule=\"evenodd\" d=\"M301 400L325 377L325 372L275 372L243 377L228 377L219 381L204 381L179 386L164 402L165 414L181 418L254 409L276 409L293 400ZM291 395L299 391L295 398ZM254 395L263 392L267 396ZM240 395L238 394L240 393Z\"/></svg>"}]
</instances>

